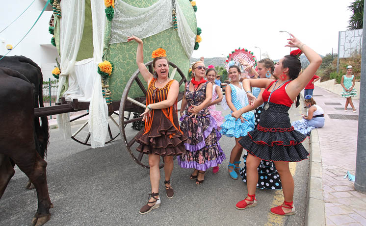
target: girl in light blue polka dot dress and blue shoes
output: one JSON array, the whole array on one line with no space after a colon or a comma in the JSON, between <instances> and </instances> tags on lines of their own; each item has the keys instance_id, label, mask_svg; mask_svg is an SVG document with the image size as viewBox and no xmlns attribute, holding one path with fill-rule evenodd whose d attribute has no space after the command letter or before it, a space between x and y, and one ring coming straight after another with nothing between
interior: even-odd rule
<instances>
[{"instance_id":1,"label":"girl in light blue polka dot dress and blue shoes","mask_svg":"<svg viewBox=\"0 0 366 226\"><path fill-rule=\"evenodd\" d=\"M242 86L239 82L240 69L237 65L233 65L229 68L229 77L232 83L226 86L225 98L223 100L223 108L231 109L231 113L246 105L248 105L248 98ZM228 172L231 178L237 179L237 173L240 170L240 156L243 152L243 147L238 143L239 140L246 136L249 131L254 129L255 117L253 112L246 112L240 116L240 120L235 120L231 116L231 113L225 116L225 123L221 125L220 133L228 137L235 137L235 146L230 154L230 161L228 165Z\"/></svg>"}]
</instances>

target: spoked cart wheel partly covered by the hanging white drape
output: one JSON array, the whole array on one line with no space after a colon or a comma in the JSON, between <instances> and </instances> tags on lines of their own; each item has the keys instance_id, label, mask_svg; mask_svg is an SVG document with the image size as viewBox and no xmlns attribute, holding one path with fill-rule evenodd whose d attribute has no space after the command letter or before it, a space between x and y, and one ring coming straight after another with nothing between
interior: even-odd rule
<instances>
[{"instance_id":1,"label":"spoked cart wheel partly covered by the hanging white drape","mask_svg":"<svg viewBox=\"0 0 366 226\"><path fill-rule=\"evenodd\" d=\"M112 142L114 139L116 139L120 135L119 125L116 122L116 119L113 118L113 114L118 115L118 113L116 113L116 112L112 112L112 114L109 115L108 128L107 128L108 133L107 133L107 137L105 139L105 144ZM80 116L70 120L70 123L79 118L87 116L87 115L89 115L89 113L80 115ZM130 116L131 116L131 114L127 114L125 118L128 120ZM91 135L91 133L89 132L88 121L86 121L76 131L72 131L71 138L80 144L91 146L90 135Z\"/></svg>"}]
</instances>

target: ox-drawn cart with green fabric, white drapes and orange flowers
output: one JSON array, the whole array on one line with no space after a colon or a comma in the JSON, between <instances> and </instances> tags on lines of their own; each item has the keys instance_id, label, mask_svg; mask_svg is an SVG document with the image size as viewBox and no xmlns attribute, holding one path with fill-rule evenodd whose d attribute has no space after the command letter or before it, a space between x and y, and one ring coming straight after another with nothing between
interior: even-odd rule
<instances>
[{"instance_id":1,"label":"ox-drawn cart with green fabric, white drapes and orange flowers","mask_svg":"<svg viewBox=\"0 0 366 226\"><path fill-rule=\"evenodd\" d=\"M147 158L135 151L138 130L131 128L142 119L147 84L137 69L137 44L127 42L127 36L143 40L145 65L152 73L152 51L166 50L170 78L179 81L181 100L186 81L183 72L188 72L189 58L201 40L195 2L51 0L51 4L54 27L50 32L60 55L59 72L56 70L60 99L48 111L63 113L57 120L66 137L92 148L103 147L121 133L124 149L138 164L148 167ZM75 119L64 112L84 109L88 113L79 117L88 114L88 121L72 131L70 122ZM50 114L45 109L35 112L37 116ZM113 115L119 115L118 122Z\"/></svg>"}]
</instances>

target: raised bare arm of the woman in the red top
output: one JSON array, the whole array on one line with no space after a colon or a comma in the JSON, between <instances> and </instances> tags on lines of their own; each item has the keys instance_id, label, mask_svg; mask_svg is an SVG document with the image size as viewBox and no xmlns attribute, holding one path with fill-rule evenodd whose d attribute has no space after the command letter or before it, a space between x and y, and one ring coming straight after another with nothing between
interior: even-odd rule
<instances>
[{"instance_id":1,"label":"raised bare arm of the woman in the red top","mask_svg":"<svg viewBox=\"0 0 366 226\"><path fill-rule=\"evenodd\" d=\"M314 50L312 50L307 45L303 44L300 40L298 40L295 36L291 34L292 38L288 39L287 47L295 47L299 48L305 56L310 61L308 67L304 70L301 75L299 75L296 79L288 84L286 88L286 93L291 100L295 100L297 95L305 88L305 86L309 83L309 81L314 76L316 70L318 70L322 59Z\"/></svg>"}]
</instances>

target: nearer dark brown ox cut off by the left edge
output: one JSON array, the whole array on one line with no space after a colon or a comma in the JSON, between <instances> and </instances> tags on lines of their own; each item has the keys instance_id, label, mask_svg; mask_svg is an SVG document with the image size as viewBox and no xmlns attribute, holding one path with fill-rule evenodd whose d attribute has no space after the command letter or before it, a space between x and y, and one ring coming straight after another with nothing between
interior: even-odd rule
<instances>
[{"instance_id":1,"label":"nearer dark brown ox cut off by the left edge","mask_svg":"<svg viewBox=\"0 0 366 226\"><path fill-rule=\"evenodd\" d=\"M34 125L34 92L29 80L17 71L0 68L0 198L17 164L34 184L38 209L32 225L51 218L46 161L37 153L39 131Z\"/></svg>"}]
</instances>

